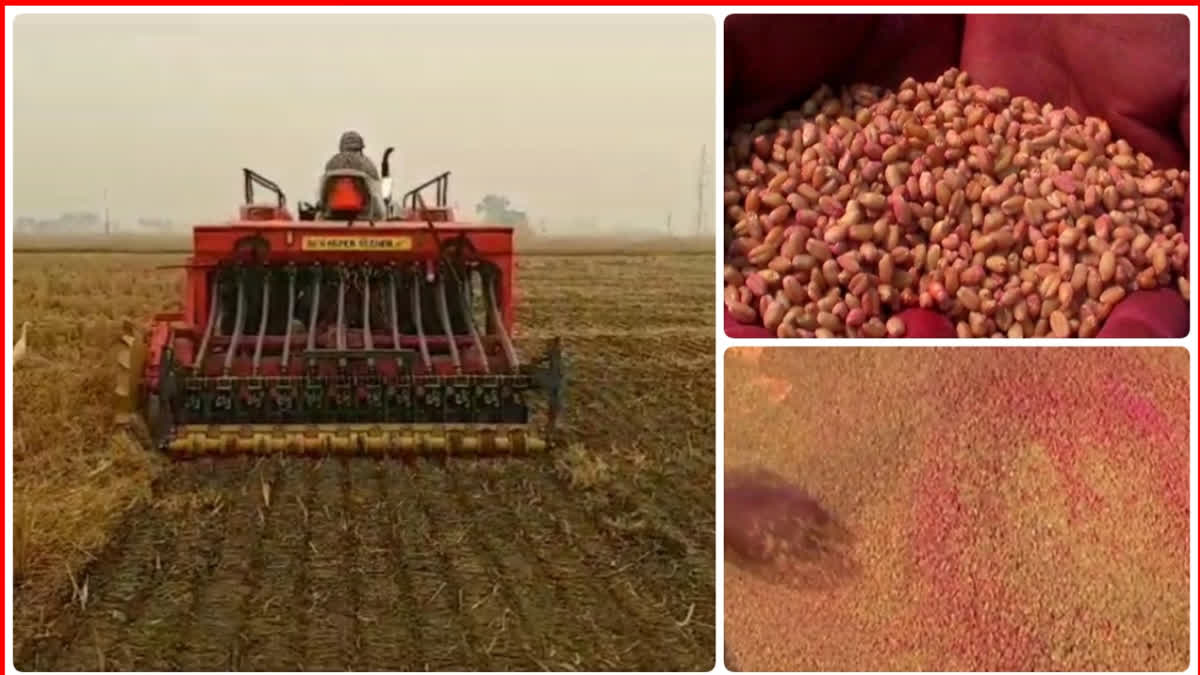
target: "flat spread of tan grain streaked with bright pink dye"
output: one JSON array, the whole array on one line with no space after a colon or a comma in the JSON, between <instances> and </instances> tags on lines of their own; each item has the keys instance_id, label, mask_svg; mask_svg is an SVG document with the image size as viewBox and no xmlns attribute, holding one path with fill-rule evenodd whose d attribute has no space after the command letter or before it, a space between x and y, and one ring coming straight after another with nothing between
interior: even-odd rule
<instances>
[{"instance_id":1,"label":"flat spread of tan grain streaked with bright pink dye","mask_svg":"<svg viewBox=\"0 0 1200 675\"><path fill-rule=\"evenodd\" d=\"M1187 351L726 354L744 670L1184 670Z\"/></svg>"}]
</instances>

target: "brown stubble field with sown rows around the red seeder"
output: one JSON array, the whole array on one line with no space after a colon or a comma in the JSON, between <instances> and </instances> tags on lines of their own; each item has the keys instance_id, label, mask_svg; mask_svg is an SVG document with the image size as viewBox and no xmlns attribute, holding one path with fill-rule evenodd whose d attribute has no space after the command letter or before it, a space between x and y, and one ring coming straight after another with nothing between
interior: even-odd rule
<instances>
[{"instance_id":1,"label":"brown stubble field with sown rows around the red seeder","mask_svg":"<svg viewBox=\"0 0 1200 675\"><path fill-rule=\"evenodd\" d=\"M518 346L563 338L568 443L487 461L114 434L109 345L179 306L178 259L14 259L18 668L712 668L712 256L523 258Z\"/></svg>"}]
</instances>

